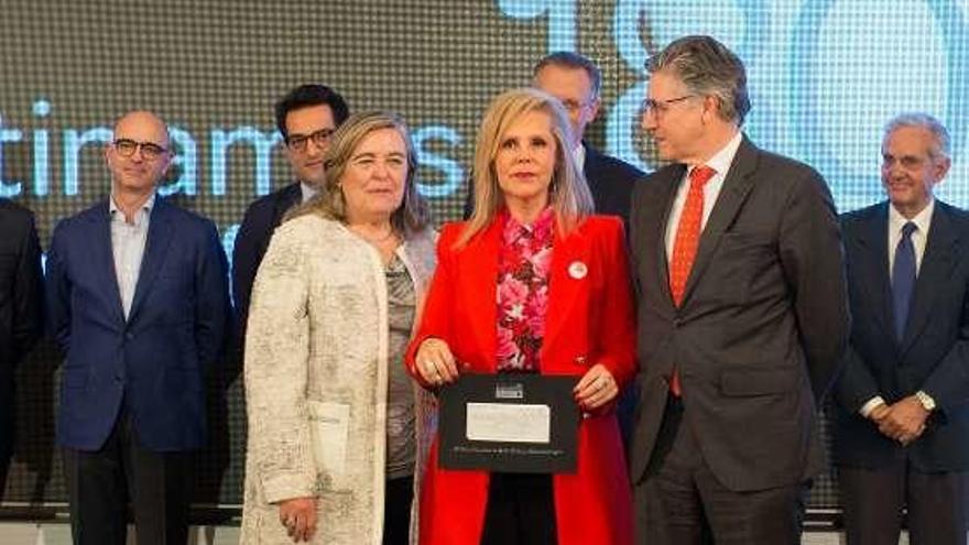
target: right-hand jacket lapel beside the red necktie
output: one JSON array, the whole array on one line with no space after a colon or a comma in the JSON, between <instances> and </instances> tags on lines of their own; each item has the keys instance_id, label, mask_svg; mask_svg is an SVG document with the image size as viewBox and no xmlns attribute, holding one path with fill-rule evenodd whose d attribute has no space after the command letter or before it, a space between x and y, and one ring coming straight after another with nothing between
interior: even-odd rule
<instances>
[{"instance_id":1,"label":"right-hand jacket lapel beside the red necktie","mask_svg":"<svg viewBox=\"0 0 969 545\"><path fill-rule=\"evenodd\" d=\"M720 243L720 237L733 224L733 218L740 211L741 206L747 200L750 190L753 188L753 172L758 165L758 150L751 144L747 138L740 143L737 155L730 170L727 171L727 177L714 204L714 210L707 220L704 232L700 235L699 248L697 248L696 259L694 259L693 268L689 271L689 277L686 281L686 290L683 294L683 304L689 301L689 295L699 282L700 276L710 264L717 246Z\"/></svg>"}]
</instances>

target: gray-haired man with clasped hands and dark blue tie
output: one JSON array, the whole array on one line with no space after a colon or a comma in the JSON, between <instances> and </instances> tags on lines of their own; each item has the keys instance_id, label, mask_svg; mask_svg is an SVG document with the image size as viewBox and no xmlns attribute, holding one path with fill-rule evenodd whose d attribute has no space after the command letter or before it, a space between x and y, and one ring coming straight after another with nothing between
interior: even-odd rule
<instances>
[{"instance_id":1,"label":"gray-haired man with clasped hands and dark blue tie","mask_svg":"<svg viewBox=\"0 0 969 545\"><path fill-rule=\"evenodd\" d=\"M836 392L849 545L965 545L969 470L969 214L933 197L949 135L921 113L882 142L888 201L842 218L853 326Z\"/></svg>"}]
</instances>

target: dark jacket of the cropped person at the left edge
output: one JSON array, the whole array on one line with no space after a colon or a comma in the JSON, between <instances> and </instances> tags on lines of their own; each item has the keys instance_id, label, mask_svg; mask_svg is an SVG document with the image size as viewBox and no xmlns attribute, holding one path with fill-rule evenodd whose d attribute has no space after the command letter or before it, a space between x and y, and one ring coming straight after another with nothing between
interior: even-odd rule
<instances>
[{"instance_id":1,"label":"dark jacket of the cropped person at the left edge","mask_svg":"<svg viewBox=\"0 0 969 545\"><path fill-rule=\"evenodd\" d=\"M13 449L13 367L43 330L42 284L34 217L0 199L0 464Z\"/></svg>"}]
</instances>

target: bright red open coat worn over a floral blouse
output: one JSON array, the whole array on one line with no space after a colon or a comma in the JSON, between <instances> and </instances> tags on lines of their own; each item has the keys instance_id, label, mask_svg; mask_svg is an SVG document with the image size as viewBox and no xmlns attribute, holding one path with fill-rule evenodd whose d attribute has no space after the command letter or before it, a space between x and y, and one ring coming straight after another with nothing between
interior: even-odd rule
<instances>
[{"instance_id":1,"label":"bright red open coat worn over a floral blouse","mask_svg":"<svg viewBox=\"0 0 969 545\"><path fill-rule=\"evenodd\" d=\"M464 372L496 372L501 226L492 222L456 250L464 226L445 226L437 244L437 271L405 360L418 381L414 356L427 337L447 341ZM602 363L622 388L635 373L633 320L621 220L592 216L566 237L556 232L542 374L578 377ZM489 473L440 469L437 448L435 439L421 491L421 543L477 545ZM577 472L553 478L558 543L631 544L632 497L611 410L583 418L578 449Z\"/></svg>"}]
</instances>

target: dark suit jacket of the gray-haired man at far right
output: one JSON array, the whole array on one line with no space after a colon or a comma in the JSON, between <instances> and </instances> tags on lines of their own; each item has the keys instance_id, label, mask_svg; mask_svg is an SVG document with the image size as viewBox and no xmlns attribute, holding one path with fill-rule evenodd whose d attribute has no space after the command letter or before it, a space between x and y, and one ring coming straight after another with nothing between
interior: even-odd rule
<instances>
[{"instance_id":1,"label":"dark suit jacket of the gray-haired man at far right","mask_svg":"<svg viewBox=\"0 0 969 545\"><path fill-rule=\"evenodd\" d=\"M889 275L889 205L841 220L853 317L835 408L835 459L878 468L908 459L922 471L969 470L969 214L936 200L904 338L895 339ZM858 411L918 390L938 410L904 448Z\"/></svg>"}]
</instances>

